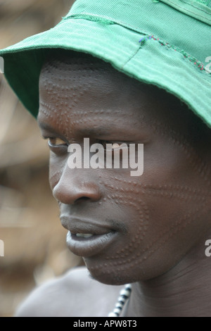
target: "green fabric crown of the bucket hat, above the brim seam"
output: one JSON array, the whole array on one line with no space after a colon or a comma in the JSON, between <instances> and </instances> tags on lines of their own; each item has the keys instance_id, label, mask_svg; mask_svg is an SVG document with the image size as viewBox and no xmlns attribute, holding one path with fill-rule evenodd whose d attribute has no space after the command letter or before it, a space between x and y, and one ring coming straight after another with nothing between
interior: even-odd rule
<instances>
[{"instance_id":1,"label":"green fabric crown of the bucket hat, above the brim seam","mask_svg":"<svg viewBox=\"0 0 211 331\"><path fill-rule=\"evenodd\" d=\"M107 21L153 35L184 50L197 62L205 63L211 55L211 43L207 42L211 0L110 0L106 6L104 0L77 0L64 20L68 18Z\"/></svg>"}]
</instances>

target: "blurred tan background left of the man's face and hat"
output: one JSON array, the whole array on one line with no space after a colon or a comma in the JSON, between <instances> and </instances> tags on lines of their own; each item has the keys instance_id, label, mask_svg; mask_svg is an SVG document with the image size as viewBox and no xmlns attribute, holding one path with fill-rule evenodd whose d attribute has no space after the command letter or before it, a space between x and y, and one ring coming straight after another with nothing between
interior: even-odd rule
<instances>
[{"instance_id":1,"label":"blurred tan background left of the man's face and hat","mask_svg":"<svg viewBox=\"0 0 211 331\"><path fill-rule=\"evenodd\" d=\"M56 25L73 0L0 0L0 49ZM49 188L49 149L0 73L0 316L35 286L79 266Z\"/></svg>"}]
</instances>

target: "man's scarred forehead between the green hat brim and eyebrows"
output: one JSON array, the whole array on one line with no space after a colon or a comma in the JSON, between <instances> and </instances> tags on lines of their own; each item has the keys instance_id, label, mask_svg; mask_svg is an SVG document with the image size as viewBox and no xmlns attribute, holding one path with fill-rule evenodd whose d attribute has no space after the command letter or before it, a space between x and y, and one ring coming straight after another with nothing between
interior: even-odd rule
<instances>
[{"instance_id":1,"label":"man's scarred forehead between the green hat brim and eyebrows","mask_svg":"<svg viewBox=\"0 0 211 331\"><path fill-rule=\"evenodd\" d=\"M110 127L154 123L186 134L196 119L172 94L138 82L92 56L58 54L46 61L39 99L39 120L51 120L63 130L99 123Z\"/></svg>"}]
</instances>

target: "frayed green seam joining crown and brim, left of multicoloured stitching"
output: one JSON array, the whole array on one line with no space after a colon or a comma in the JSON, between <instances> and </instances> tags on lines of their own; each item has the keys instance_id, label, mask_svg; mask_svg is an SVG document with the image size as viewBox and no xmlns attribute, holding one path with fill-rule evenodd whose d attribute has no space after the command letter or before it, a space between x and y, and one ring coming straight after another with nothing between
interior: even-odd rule
<instances>
[{"instance_id":1,"label":"frayed green seam joining crown and brim, left of multicoloured stitching","mask_svg":"<svg viewBox=\"0 0 211 331\"><path fill-rule=\"evenodd\" d=\"M107 24L118 24L123 27L128 27L130 30L134 30L136 32L143 32L143 35L148 35L149 33L152 33L150 31L146 32L145 30L140 29L140 27L136 27L134 25L127 24L125 22L122 22L121 20L113 20L113 18L110 18L108 16L101 15L100 17L97 15L93 15L91 13L79 13L74 15L65 16L63 20L60 23L63 23L64 20L68 20L69 18L73 19L85 19L85 20L93 20L94 22L101 22L101 23L107 23ZM60 24L58 23L58 24Z\"/></svg>"}]
</instances>

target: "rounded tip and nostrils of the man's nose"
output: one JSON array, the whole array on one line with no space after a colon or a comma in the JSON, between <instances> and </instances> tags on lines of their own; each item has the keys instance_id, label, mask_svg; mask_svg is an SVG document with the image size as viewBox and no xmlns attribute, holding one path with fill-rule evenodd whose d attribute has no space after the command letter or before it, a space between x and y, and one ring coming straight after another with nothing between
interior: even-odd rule
<instances>
[{"instance_id":1,"label":"rounded tip and nostrils of the man's nose","mask_svg":"<svg viewBox=\"0 0 211 331\"><path fill-rule=\"evenodd\" d=\"M100 200L101 189L98 182L86 170L72 170L66 167L53 187L55 199L62 204L75 204L79 200L87 199L90 201Z\"/></svg>"}]
</instances>

